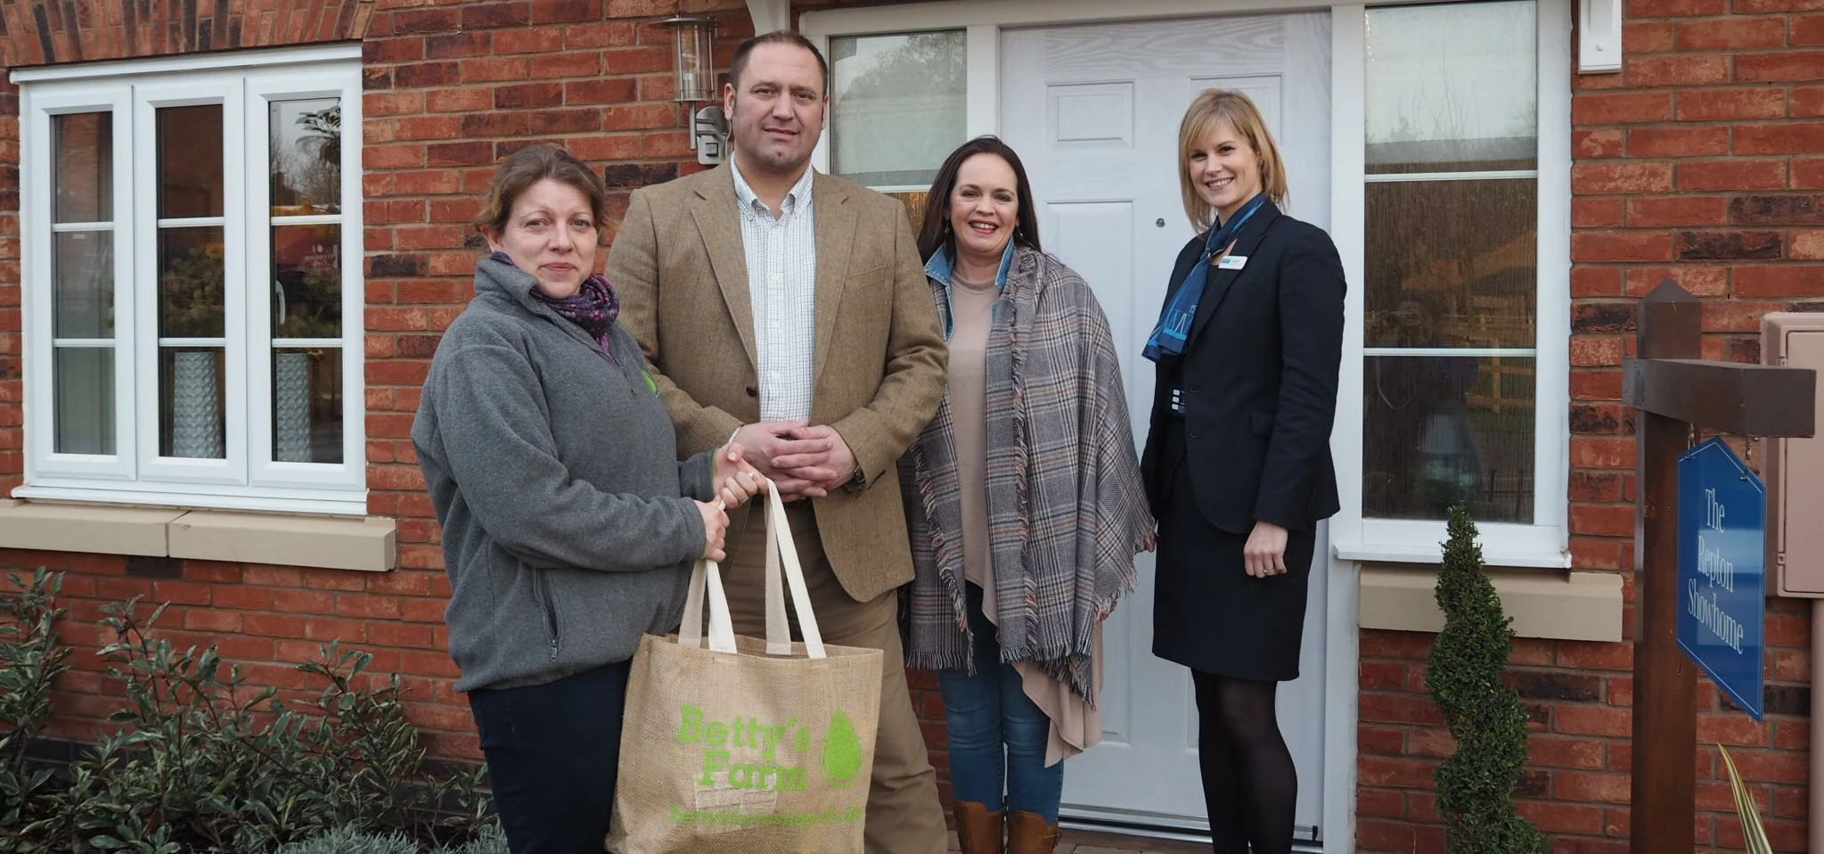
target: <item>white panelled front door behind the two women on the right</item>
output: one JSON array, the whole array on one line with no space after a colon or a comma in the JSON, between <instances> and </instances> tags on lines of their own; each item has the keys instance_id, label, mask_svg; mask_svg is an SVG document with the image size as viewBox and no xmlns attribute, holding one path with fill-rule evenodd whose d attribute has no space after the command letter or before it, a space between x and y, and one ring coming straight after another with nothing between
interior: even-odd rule
<instances>
[{"instance_id":1,"label":"white panelled front door behind the two women on the right","mask_svg":"<svg viewBox=\"0 0 1824 854\"><path fill-rule=\"evenodd\" d=\"M1178 192L1178 120L1207 88L1242 89L1266 115L1291 179L1290 212L1330 224L1330 15L1149 20L1001 33L1000 135L1020 153L1043 246L1094 288L1114 327L1135 442L1145 440L1153 363L1140 358L1173 259L1191 237ZM1299 766L1299 838L1319 838L1324 794L1328 536L1317 544L1302 679L1279 715ZM1107 624L1104 743L1065 766L1065 814L1206 827L1197 706L1184 668L1155 659L1153 560Z\"/></svg>"}]
</instances>

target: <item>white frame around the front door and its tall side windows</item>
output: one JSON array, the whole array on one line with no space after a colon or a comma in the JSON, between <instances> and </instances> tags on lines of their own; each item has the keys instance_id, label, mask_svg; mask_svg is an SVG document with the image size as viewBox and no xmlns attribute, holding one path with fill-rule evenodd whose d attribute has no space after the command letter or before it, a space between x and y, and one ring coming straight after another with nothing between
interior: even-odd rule
<instances>
[{"instance_id":1,"label":"white frame around the front door and its tall side windows","mask_svg":"<svg viewBox=\"0 0 1824 854\"><path fill-rule=\"evenodd\" d=\"M1437 0L1394 0L1381 5L1435 5ZM1301 11L1275 0L1127 0L1122 4L1058 4L1049 0L941 2L819 9L799 20L819 47L837 36L965 31L965 135L1000 131L1000 38L1005 27L1149 20L1187 15ZM1363 496L1363 367L1366 272L1366 115L1363 97L1368 4L1332 5L1332 237L1353 283L1344 310L1342 372L1332 456L1344 507L1330 520L1333 557L1361 562L1435 564L1443 558L1443 520L1364 518ZM1481 524L1490 566L1569 568L1570 474L1570 0L1538 0L1538 303L1534 516L1530 524ZM812 164L830 166L828 133ZM888 188L892 190L892 188ZM925 190L925 188L917 188Z\"/></svg>"}]
</instances>

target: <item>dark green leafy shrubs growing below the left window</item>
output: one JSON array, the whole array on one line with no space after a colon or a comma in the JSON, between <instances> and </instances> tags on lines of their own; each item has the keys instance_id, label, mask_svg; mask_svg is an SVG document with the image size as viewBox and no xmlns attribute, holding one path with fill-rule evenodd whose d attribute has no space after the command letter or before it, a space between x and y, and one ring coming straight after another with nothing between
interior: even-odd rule
<instances>
[{"instance_id":1,"label":"dark green leafy shrubs growing below the left window","mask_svg":"<svg viewBox=\"0 0 1824 854\"><path fill-rule=\"evenodd\" d=\"M31 637L49 635L60 613L51 606L55 582L38 580L35 589L9 608L42 615ZM440 776L427 768L399 679L365 673L368 653L323 648L317 661L299 664L323 682L321 692L286 703L270 688L248 688L215 648L179 651L157 639L151 628L162 613L161 606L142 620L137 599L104 608L102 626L115 642L102 657L108 677L124 688L124 708L109 717L119 730L71 763L66 785L38 785L27 807L16 808L31 821L0 839L0 850L263 854L343 828L398 830L423 847L474 836L485 818L476 792L482 770ZM0 640L11 637L18 635ZM13 642L0 655L26 657L16 651L22 646L29 644ZM40 653L33 661L62 659ZM47 703L26 695L9 688L0 710L47 712Z\"/></svg>"}]
</instances>

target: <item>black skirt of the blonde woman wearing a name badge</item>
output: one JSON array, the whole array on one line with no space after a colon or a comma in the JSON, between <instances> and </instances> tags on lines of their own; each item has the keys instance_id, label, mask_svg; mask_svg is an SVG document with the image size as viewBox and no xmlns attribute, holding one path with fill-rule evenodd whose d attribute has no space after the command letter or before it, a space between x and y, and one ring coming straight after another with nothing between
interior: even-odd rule
<instances>
[{"instance_id":1,"label":"black skirt of the blonde woman wearing a name badge","mask_svg":"<svg viewBox=\"0 0 1824 854\"><path fill-rule=\"evenodd\" d=\"M1153 655L1231 679L1299 679L1304 602L1317 526L1291 531L1286 575L1253 578L1242 560L1248 535L1209 524L1186 471L1184 422L1160 425L1164 505L1153 588Z\"/></svg>"}]
</instances>

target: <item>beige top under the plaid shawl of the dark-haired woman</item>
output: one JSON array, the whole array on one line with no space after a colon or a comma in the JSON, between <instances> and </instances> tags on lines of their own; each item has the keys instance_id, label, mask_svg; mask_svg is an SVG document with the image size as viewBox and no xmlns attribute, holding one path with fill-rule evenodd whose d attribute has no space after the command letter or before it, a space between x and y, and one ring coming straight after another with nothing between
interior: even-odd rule
<instances>
[{"instance_id":1,"label":"beige top under the plaid shawl of the dark-haired woman","mask_svg":"<svg viewBox=\"0 0 1824 854\"><path fill-rule=\"evenodd\" d=\"M956 480L963 491L958 504L963 513L963 577L983 589L981 611L996 622L994 566L989 560L989 420L987 420L987 352L989 327L994 321L994 303L1000 288L994 281L965 281L950 276L950 429L956 432ZM1102 626L1096 626L1091 650L1094 695L1102 695ZM978 668L994 662L976 662ZM1051 743L1045 765L1089 750L1102 741L1102 712L1071 693L1071 688L1049 675L1036 662L1014 662L1025 695L1051 719Z\"/></svg>"}]
</instances>

